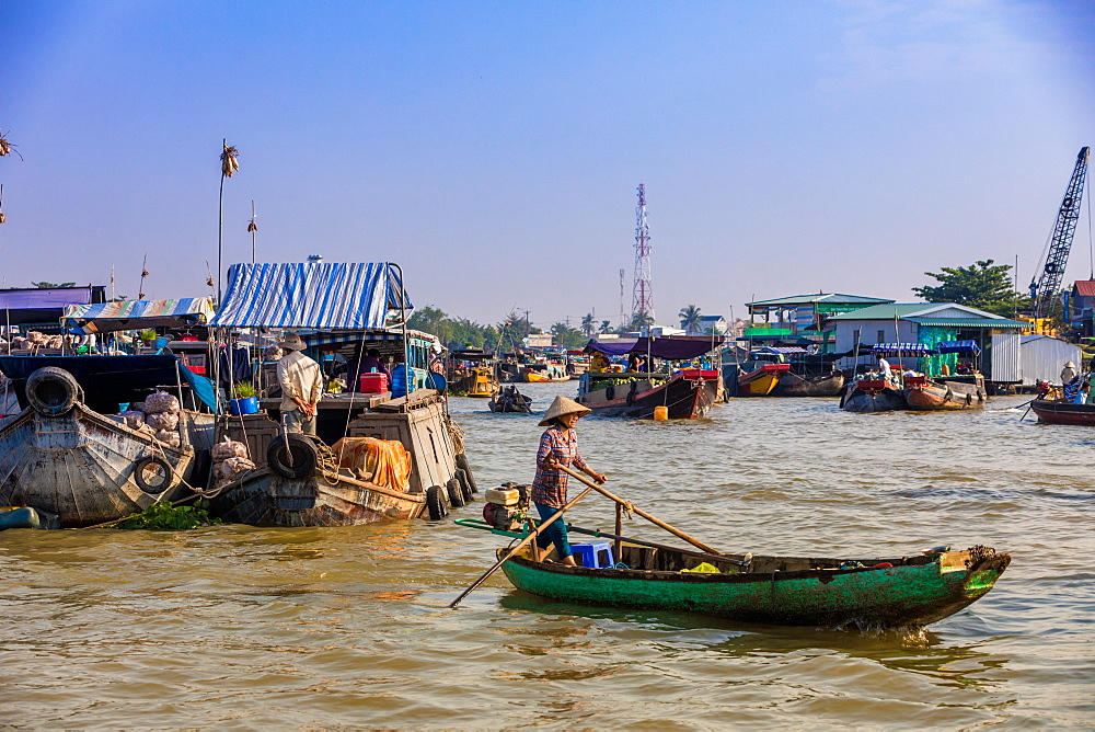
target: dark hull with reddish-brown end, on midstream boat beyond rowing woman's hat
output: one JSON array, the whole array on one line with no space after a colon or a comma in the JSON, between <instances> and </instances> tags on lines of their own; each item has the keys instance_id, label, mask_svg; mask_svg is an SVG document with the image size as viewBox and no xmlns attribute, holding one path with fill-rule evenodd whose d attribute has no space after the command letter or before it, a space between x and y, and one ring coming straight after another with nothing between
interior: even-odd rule
<instances>
[{"instance_id":1,"label":"dark hull with reddish-brown end, on midstream boat beyond rowing woman's hat","mask_svg":"<svg viewBox=\"0 0 1095 732\"><path fill-rule=\"evenodd\" d=\"M653 420L654 410L666 407L670 420L692 420L707 414L717 392L716 376L692 379L678 374L658 386L636 380L579 394L577 401L601 416Z\"/></svg>"}]
</instances>

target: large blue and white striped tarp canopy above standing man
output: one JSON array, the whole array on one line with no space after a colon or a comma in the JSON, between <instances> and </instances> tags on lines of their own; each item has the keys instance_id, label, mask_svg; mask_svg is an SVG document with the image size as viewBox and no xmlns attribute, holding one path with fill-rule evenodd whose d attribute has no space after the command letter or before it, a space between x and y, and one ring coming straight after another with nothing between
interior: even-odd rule
<instances>
[{"instance_id":1,"label":"large blue and white striped tarp canopy above standing man","mask_svg":"<svg viewBox=\"0 0 1095 732\"><path fill-rule=\"evenodd\" d=\"M390 262L233 264L224 302L209 323L219 328L366 330L388 324L389 310L410 298Z\"/></svg>"}]
</instances>

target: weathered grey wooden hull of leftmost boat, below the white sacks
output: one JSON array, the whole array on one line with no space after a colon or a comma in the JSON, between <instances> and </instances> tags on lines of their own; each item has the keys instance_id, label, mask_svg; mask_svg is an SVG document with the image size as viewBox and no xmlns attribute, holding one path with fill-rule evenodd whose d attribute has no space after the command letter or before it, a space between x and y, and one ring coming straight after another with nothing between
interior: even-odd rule
<instances>
[{"instance_id":1,"label":"weathered grey wooden hull of leftmost boat, below the white sacks","mask_svg":"<svg viewBox=\"0 0 1095 732\"><path fill-rule=\"evenodd\" d=\"M163 490L137 483L135 469L145 458L168 464L172 478ZM66 528L93 526L189 493L195 464L194 447L163 445L82 403L62 416L26 409L0 425L0 505L56 514Z\"/></svg>"}]
</instances>

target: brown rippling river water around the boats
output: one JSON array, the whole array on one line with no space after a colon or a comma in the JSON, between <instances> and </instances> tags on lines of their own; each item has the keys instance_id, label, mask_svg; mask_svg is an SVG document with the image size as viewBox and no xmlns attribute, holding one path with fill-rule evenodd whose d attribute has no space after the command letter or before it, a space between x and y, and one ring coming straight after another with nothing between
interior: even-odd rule
<instances>
[{"instance_id":1,"label":"brown rippling river water around the boats","mask_svg":"<svg viewBox=\"0 0 1095 732\"><path fill-rule=\"evenodd\" d=\"M539 410L574 382L526 385ZM588 418L590 465L724 551L1011 552L927 629L750 626L549 603L505 541L446 521L0 534L0 727L972 729L1095 727L1095 430L989 411L850 414L740 399L691 422ZM541 430L450 408L482 490L529 482ZM572 488L572 495L573 495ZM611 530L587 496L576 524ZM637 518L625 533L677 540Z\"/></svg>"}]
</instances>

